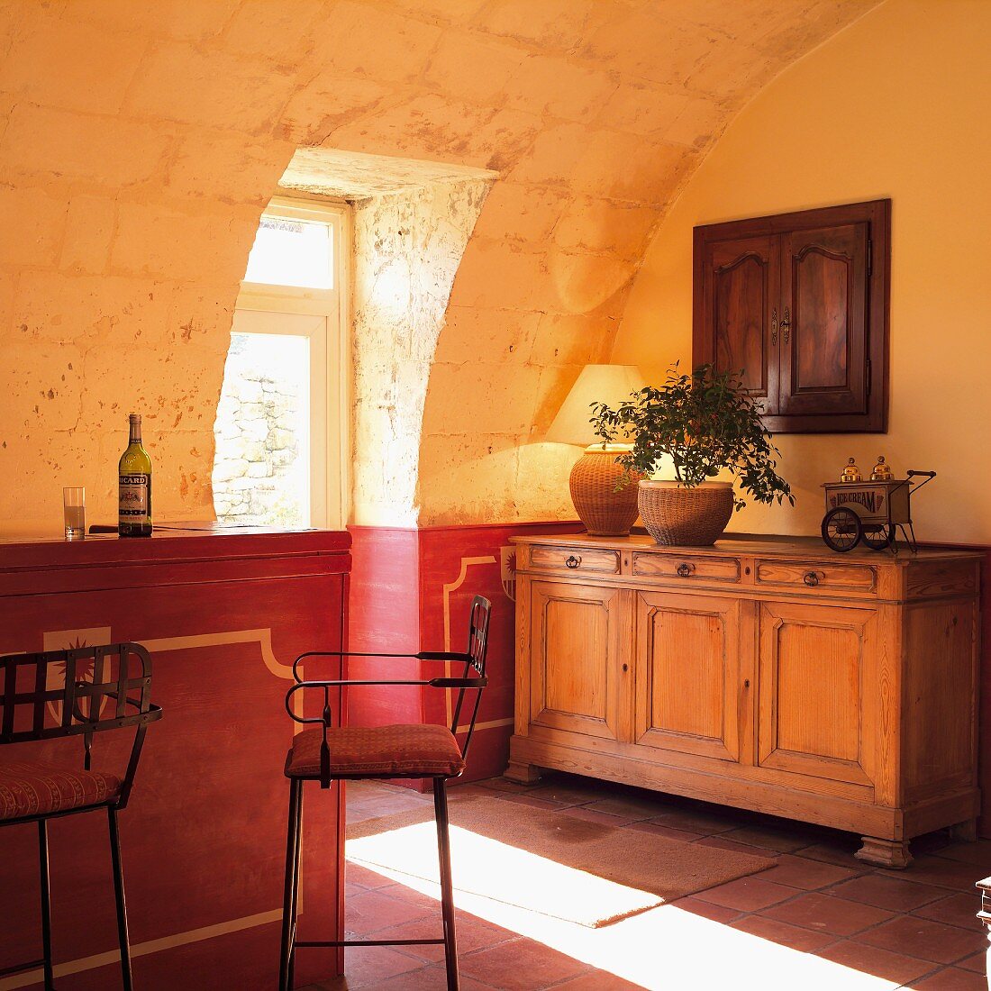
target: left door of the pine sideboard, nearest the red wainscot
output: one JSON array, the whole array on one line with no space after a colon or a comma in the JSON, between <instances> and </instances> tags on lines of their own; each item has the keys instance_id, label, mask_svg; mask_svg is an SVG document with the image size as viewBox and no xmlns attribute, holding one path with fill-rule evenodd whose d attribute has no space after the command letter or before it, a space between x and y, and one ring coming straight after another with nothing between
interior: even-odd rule
<instances>
[{"instance_id":1,"label":"left door of the pine sideboard, nearest the red wainscot","mask_svg":"<svg viewBox=\"0 0 991 991\"><path fill-rule=\"evenodd\" d=\"M621 591L555 582L531 589L531 722L618 738Z\"/></svg>"}]
</instances>

